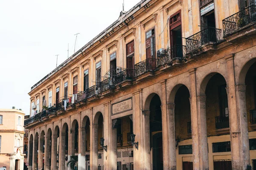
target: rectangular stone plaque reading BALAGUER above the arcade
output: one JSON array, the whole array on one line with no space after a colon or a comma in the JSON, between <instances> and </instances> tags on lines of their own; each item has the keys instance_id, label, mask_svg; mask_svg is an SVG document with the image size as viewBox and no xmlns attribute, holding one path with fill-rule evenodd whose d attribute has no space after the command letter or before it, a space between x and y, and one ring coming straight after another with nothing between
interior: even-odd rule
<instances>
[{"instance_id":1,"label":"rectangular stone plaque reading BALAGUER above the arcade","mask_svg":"<svg viewBox=\"0 0 256 170\"><path fill-rule=\"evenodd\" d=\"M132 98L112 104L112 115L132 110Z\"/></svg>"}]
</instances>

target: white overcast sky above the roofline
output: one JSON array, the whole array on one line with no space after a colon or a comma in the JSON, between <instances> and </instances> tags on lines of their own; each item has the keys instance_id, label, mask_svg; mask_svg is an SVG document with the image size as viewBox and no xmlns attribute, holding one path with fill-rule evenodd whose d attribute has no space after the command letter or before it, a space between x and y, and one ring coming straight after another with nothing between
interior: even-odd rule
<instances>
[{"instance_id":1,"label":"white overcast sky above the roofline","mask_svg":"<svg viewBox=\"0 0 256 170\"><path fill-rule=\"evenodd\" d=\"M118 19L123 0L0 0L0 108L29 114L29 91ZM125 0L125 11L140 0Z\"/></svg>"}]
</instances>

